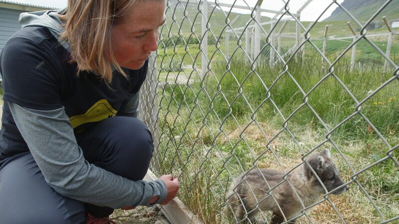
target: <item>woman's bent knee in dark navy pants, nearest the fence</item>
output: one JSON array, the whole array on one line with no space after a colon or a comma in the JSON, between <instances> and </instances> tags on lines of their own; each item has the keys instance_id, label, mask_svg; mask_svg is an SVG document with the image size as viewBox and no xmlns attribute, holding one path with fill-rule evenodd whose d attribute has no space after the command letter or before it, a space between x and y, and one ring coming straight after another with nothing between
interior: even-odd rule
<instances>
[{"instance_id":1,"label":"woman's bent knee in dark navy pants, nearest the fence","mask_svg":"<svg viewBox=\"0 0 399 224\"><path fill-rule=\"evenodd\" d=\"M131 180L141 180L147 173L153 138L147 125L137 118L108 118L78 139L86 160L96 166Z\"/></svg>"}]
</instances>

